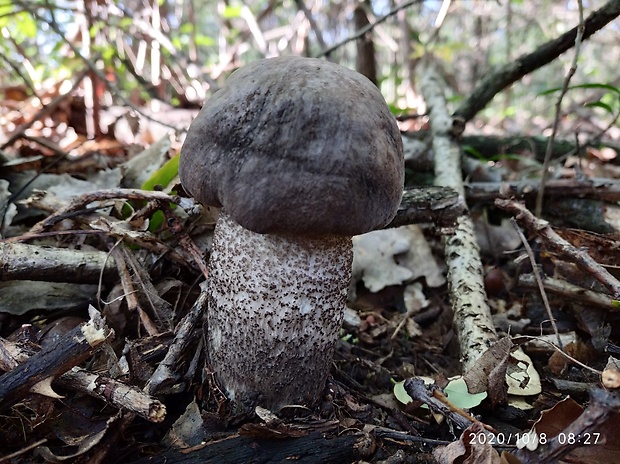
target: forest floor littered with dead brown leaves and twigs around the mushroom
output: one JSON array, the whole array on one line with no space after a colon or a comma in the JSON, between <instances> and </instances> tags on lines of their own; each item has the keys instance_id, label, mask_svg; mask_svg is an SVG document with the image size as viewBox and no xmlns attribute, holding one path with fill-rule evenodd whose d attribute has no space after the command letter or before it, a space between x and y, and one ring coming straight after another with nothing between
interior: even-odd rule
<instances>
[{"instance_id":1,"label":"forest floor littered with dead brown leaves and twigs around the mushroom","mask_svg":"<svg viewBox=\"0 0 620 464\"><path fill-rule=\"evenodd\" d=\"M194 114L169 112L176 119L168 122L187 125ZM177 364L155 382L200 293L199 263L206 258L192 254L191 243L208 248L213 212L197 218L173 209L172 197L160 191L175 189L170 170L176 166L165 163L179 149L168 135L160 138L161 125L143 120L149 128L134 133L129 116L115 116L113 137L85 142L75 136L80 130L73 130L71 114L54 117L61 116L68 122L64 132L57 123L53 130L35 126L40 137L23 136L3 148L0 462L620 462L614 430L620 407L615 397L604 396L620 385L614 378L618 303L600 275L588 274L569 254L530 233L553 327L531 260L492 194L468 198L485 289L498 339L509 335L534 362L536 394L495 395L503 399L491 405L456 391L448 394L451 412L443 415L419 399L405 404L402 381L428 377L450 390L449 379L462 374L442 241L433 224L356 239L358 253L371 257L355 262L347 317L317 409L290 417L218 414L225 408L201 377L199 333L187 337ZM479 171L494 170L510 181L526 179L540 157L528 150L499 161L497 155L489 154L494 162L479 162ZM580 187L574 194L563 191L544 215L612 275L620 275L617 162L613 150L592 148L558 164L556 180L577 180L582 187L592 183L581 179L597 178L600 188L588 198ZM420 174L415 159L407 163ZM150 191L128 190L138 188ZM532 207L532 197L521 193ZM72 256L53 254L58 250ZM85 323L103 336L76 337ZM19 370L35 365L29 363L36 353L46 355L39 370ZM61 375L69 369L73 377ZM122 390L126 385L133 390ZM471 415L457 413L456 419L459 406ZM584 417L589 425L579 422ZM519 454L517 439L527 443L535 423L538 448ZM491 433L482 433L483 426ZM555 437L557 454L543 452L541 437ZM441 448L448 444L452 448Z\"/></svg>"}]
</instances>

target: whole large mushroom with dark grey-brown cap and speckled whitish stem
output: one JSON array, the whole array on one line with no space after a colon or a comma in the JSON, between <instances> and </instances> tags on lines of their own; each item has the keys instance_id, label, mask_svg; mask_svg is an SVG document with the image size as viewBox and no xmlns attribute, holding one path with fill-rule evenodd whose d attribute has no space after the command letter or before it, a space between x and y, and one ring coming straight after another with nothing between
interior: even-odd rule
<instances>
[{"instance_id":1,"label":"whole large mushroom with dark grey-brown cap and speckled whitish stem","mask_svg":"<svg viewBox=\"0 0 620 464\"><path fill-rule=\"evenodd\" d=\"M402 141L381 93L319 59L253 62L192 122L179 176L222 208L207 369L234 412L315 405L343 319L351 237L391 221L402 195Z\"/></svg>"}]
</instances>

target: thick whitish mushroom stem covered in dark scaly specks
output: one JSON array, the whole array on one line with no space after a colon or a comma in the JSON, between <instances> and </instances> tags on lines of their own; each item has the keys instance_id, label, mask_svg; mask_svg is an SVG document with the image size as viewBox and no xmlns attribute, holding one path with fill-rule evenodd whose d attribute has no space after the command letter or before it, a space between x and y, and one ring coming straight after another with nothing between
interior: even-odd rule
<instances>
[{"instance_id":1,"label":"thick whitish mushroom stem covered in dark scaly specks","mask_svg":"<svg viewBox=\"0 0 620 464\"><path fill-rule=\"evenodd\" d=\"M351 237L257 234L224 210L209 261L208 367L235 412L312 406L331 365Z\"/></svg>"}]
</instances>

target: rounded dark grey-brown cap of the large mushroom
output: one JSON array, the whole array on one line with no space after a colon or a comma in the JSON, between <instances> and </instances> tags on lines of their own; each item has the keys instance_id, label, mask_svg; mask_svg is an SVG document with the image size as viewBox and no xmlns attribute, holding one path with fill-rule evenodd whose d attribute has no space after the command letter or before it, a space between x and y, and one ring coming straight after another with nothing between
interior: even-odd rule
<instances>
[{"instance_id":1,"label":"rounded dark grey-brown cap of the large mushroom","mask_svg":"<svg viewBox=\"0 0 620 464\"><path fill-rule=\"evenodd\" d=\"M253 232L357 235L396 214L402 140L361 74L313 58L260 60L205 103L179 176L194 198Z\"/></svg>"}]
</instances>

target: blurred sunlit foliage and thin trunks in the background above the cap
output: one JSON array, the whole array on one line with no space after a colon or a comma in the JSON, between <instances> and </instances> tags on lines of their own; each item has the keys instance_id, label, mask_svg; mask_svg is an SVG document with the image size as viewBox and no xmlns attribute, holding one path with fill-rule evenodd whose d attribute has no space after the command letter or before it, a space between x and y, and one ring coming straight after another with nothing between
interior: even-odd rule
<instances>
[{"instance_id":1,"label":"blurred sunlit foliage and thin trunks in the background above the cap","mask_svg":"<svg viewBox=\"0 0 620 464\"><path fill-rule=\"evenodd\" d=\"M584 2L586 15L602 4ZM576 2L549 0L3 0L0 80L26 83L31 95L42 94L88 70L90 86L81 92L105 105L123 104L121 96L137 105L152 100L199 105L230 71L261 57L325 56L331 50L327 59L355 67L356 41L334 46L359 29L356 8L370 23L394 13L362 37L375 44L377 79L386 99L395 111L405 112L423 109L413 72L425 49L441 61L452 98L458 100L481 77L579 21ZM618 24L595 34L584 44L572 82L619 86L618 43ZM539 94L561 85L571 59L566 53L505 91L483 113L484 121L509 131L546 128L553 96ZM604 125L599 119L618 107L617 94L600 88L567 98L572 116L565 130L577 120ZM593 101L607 107L585 106Z\"/></svg>"}]
</instances>

